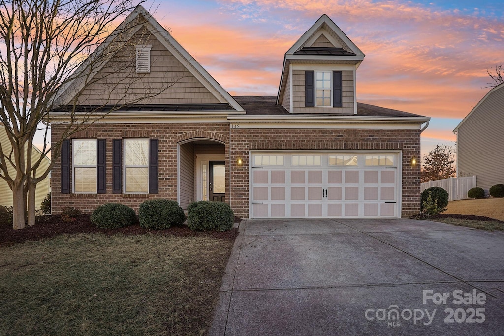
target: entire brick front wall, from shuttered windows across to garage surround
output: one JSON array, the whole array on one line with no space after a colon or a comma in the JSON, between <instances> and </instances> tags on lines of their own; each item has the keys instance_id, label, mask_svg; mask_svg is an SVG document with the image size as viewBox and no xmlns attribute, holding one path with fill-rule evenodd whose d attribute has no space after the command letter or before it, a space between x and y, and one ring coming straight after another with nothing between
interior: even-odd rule
<instances>
[{"instance_id":1,"label":"entire brick front wall, from shuttered windows across to garage surround","mask_svg":"<svg viewBox=\"0 0 504 336\"><path fill-rule=\"evenodd\" d=\"M62 127L52 127L52 138L58 139ZM149 137L159 139L159 194L112 194L112 140ZM230 137L230 139L228 139ZM108 202L123 203L135 210L148 198L177 199L177 143L195 138L209 138L225 143L226 199L235 215L248 218L248 151L249 150L401 150L402 216L420 211L420 166L411 167L412 156L420 157L420 132L410 129L231 129L227 123L176 124L100 124L76 133L72 138L107 140L107 193L61 194L60 159L55 159L51 173L52 211L58 214L68 205L90 214ZM230 145L231 144L231 148ZM229 155L231 160L229 161ZM241 157L242 166L236 161ZM229 163L231 162L231 165ZM229 180L229 176L231 179ZM231 183L231 188L228 186Z\"/></svg>"}]
</instances>

